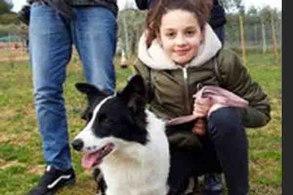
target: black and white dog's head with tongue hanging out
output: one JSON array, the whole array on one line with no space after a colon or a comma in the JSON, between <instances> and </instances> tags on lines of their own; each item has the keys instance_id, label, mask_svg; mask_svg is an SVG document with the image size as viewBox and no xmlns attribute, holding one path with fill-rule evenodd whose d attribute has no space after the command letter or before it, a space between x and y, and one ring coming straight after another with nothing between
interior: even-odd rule
<instances>
[{"instance_id":1,"label":"black and white dog's head with tongue hanging out","mask_svg":"<svg viewBox=\"0 0 293 195\"><path fill-rule=\"evenodd\" d=\"M76 88L89 100L83 115L86 126L72 141L75 150L86 153L82 160L85 168L98 166L128 143L147 143L146 92L141 76L132 77L124 90L111 96L87 83L77 83Z\"/></svg>"}]
</instances>

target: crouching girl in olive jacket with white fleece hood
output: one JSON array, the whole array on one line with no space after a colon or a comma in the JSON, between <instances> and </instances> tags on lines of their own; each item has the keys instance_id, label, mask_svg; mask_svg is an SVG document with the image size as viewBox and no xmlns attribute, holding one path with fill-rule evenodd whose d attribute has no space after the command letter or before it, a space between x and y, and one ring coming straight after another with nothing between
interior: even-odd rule
<instances>
[{"instance_id":1,"label":"crouching girl in olive jacket with white fleece hood","mask_svg":"<svg viewBox=\"0 0 293 195\"><path fill-rule=\"evenodd\" d=\"M223 49L207 23L208 0L157 0L146 19L135 70L144 80L149 109L163 119L206 115L212 105L193 104L201 86L215 85L249 101L247 109L219 108L207 117L206 133L192 133L194 121L168 126L171 152L170 193L189 176L221 173L229 195L249 193L248 140L245 127L270 121L267 95L241 60Z\"/></svg>"}]
</instances>

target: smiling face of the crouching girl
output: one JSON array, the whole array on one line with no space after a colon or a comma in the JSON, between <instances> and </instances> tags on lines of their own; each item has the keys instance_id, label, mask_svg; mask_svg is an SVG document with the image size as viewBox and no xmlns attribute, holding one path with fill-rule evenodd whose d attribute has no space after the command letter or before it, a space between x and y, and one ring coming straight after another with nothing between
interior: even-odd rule
<instances>
[{"instance_id":1,"label":"smiling face of the crouching girl","mask_svg":"<svg viewBox=\"0 0 293 195\"><path fill-rule=\"evenodd\" d=\"M175 63L184 65L198 54L203 32L193 13L172 10L162 17L158 40Z\"/></svg>"}]
</instances>

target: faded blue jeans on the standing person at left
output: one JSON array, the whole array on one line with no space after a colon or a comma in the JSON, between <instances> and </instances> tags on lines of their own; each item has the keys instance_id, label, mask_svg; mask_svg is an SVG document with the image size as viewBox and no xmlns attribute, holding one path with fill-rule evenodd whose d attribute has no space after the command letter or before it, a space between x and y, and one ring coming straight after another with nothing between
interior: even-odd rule
<instances>
[{"instance_id":1,"label":"faded blue jeans on the standing person at left","mask_svg":"<svg viewBox=\"0 0 293 195\"><path fill-rule=\"evenodd\" d=\"M73 8L74 20L36 2L31 8L29 48L34 98L42 136L43 155L57 169L71 166L63 83L72 44L77 48L87 82L113 93L117 22L103 7Z\"/></svg>"}]
</instances>

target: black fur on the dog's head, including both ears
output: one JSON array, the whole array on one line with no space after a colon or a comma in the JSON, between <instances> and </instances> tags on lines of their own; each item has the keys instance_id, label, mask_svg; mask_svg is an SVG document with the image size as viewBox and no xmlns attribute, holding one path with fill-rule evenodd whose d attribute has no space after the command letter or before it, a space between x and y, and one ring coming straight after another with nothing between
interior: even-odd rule
<instances>
[{"instance_id":1,"label":"black fur on the dog's head, including both ears","mask_svg":"<svg viewBox=\"0 0 293 195\"><path fill-rule=\"evenodd\" d=\"M96 106L108 95L87 83L77 83L76 88L89 99L89 107L83 114L83 118L89 121ZM144 97L143 78L140 76L131 78L122 92L101 106L93 123L95 136L113 136L146 144L148 134Z\"/></svg>"}]
</instances>

